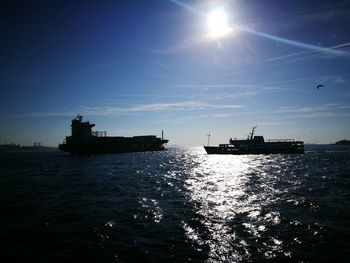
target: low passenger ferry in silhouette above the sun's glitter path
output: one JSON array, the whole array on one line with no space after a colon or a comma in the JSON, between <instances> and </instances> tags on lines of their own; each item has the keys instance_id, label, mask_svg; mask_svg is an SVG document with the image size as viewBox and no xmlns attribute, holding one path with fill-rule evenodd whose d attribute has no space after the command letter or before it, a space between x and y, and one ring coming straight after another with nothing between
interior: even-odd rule
<instances>
[{"instance_id":1,"label":"low passenger ferry in silhouette above the sun's glitter path","mask_svg":"<svg viewBox=\"0 0 350 263\"><path fill-rule=\"evenodd\" d=\"M204 146L208 154L275 154L304 153L304 142L294 139L264 140L263 136L254 136L254 127L246 140L230 139L229 144ZM208 143L209 144L209 143Z\"/></svg>"}]
</instances>

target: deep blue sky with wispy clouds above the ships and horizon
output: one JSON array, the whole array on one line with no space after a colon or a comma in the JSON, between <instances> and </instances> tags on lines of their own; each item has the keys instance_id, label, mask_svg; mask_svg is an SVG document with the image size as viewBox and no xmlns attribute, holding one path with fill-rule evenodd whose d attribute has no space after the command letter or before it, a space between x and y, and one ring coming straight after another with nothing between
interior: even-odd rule
<instances>
[{"instance_id":1,"label":"deep blue sky with wispy clouds above the ships and horizon","mask_svg":"<svg viewBox=\"0 0 350 263\"><path fill-rule=\"evenodd\" d=\"M350 1L2 1L0 144L57 146L78 113L171 145L350 139L349 24Z\"/></svg>"}]
</instances>

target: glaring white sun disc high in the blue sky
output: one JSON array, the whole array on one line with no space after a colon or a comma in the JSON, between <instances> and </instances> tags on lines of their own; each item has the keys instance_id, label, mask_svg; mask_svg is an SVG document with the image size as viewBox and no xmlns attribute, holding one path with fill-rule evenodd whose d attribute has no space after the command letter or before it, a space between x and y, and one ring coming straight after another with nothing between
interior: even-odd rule
<instances>
[{"instance_id":1,"label":"glaring white sun disc high in the blue sky","mask_svg":"<svg viewBox=\"0 0 350 263\"><path fill-rule=\"evenodd\" d=\"M213 38L220 38L230 33L231 29L227 19L227 13L223 8L211 11L207 18L209 35Z\"/></svg>"}]
</instances>

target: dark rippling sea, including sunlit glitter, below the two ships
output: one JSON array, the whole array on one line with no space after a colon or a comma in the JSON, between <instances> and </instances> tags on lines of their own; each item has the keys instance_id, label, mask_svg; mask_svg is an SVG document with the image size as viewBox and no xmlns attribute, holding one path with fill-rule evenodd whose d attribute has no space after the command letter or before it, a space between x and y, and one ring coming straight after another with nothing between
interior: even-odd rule
<instances>
[{"instance_id":1,"label":"dark rippling sea, including sunlit glitter, below the two ships","mask_svg":"<svg viewBox=\"0 0 350 263\"><path fill-rule=\"evenodd\" d=\"M0 154L1 262L350 262L350 149Z\"/></svg>"}]
</instances>

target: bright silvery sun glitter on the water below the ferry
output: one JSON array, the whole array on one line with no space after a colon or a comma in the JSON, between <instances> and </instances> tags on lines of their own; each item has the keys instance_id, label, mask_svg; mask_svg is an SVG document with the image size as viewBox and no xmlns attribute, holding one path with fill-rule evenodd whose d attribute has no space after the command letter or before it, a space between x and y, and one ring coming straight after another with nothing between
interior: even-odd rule
<instances>
[{"instance_id":1,"label":"bright silvery sun glitter on the water below the ferry","mask_svg":"<svg viewBox=\"0 0 350 263\"><path fill-rule=\"evenodd\" d=\"M198 165L185 185L207 237L203 241L195 227L184 223L187 238L209 248L209 262L249 260L262 234L281 221L279 212L271 209L279 193L276 177L262 169L271 157L197 156ZM272 164L276 160L269 169L279 169ZM255 249L258 254L273 258L281 252L282 241L271 235L264 239L264 247Z\"/></svg>"}]
</instances>

